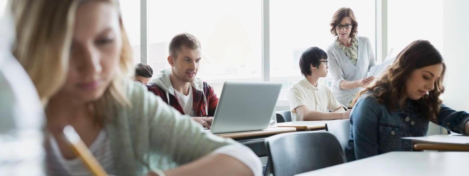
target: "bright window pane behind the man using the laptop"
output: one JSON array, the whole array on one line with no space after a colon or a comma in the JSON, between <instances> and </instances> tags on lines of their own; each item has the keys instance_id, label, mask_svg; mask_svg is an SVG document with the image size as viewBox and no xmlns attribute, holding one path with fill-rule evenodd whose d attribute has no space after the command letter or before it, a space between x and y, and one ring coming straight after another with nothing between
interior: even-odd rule
<instances>
[{"instance_id":1,"label":"bright window pane behind the man using the laptop","mask_svg":"<svg viewBox=\"0 0 469 176\"><path fill-rule=\"evenodd\" d=\"M202 45L197 77L218 95L227 80L260 82L261 5L260 0L148 0L148 64L154 72L169 68L169 42L187 32Z\"/></svg>"}]
</instances>

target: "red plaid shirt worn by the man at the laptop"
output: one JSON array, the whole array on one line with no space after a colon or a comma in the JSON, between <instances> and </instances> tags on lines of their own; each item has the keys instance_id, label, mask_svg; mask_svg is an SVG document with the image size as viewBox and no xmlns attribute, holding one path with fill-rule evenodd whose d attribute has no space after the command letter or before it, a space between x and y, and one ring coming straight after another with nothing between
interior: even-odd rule
<instances>
[{"instance_id":1,"label":"red plaid shirt worn by the man at the laptop","mask_svg":"<svg viewBox=\"0 0 469 176\"><path fill-rule=\"evenodd\" d=\"M166 97L166 91L164 89L156 84L151 83L147 84L147 87L149 91L161 97L161 99L163 99L166 104L168 103L168 98ZM198 91L196 88L192 87L192 100L194 111L196 112L196 117L213 117L213 115L215 115L215 109L217 109L218 105L218 97L217 94L213 91L212 86L208 85L206 82L204 82L204 92ZM208 112L205 112L205 101L207 102L206 105L208 106ZM176 96L171 94L169 94L169 106L174 107L181 114L184 114L184 111L182 110L182 107L179 104Z\"/></svg>"}]
</instances>

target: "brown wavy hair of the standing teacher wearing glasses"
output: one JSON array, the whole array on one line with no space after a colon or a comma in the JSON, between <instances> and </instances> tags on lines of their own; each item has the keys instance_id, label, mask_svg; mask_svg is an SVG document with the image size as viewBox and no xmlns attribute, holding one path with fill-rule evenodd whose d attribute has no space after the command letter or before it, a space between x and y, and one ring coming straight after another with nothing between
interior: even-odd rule
<instances>
[{"instance_id":1,"label":"brown wavy hair of the standing teacher wearing glasses","mask_svg":"<svg viewBox=\"0 0 469 176\"><path fill-rule=\"evenodd\" d=\"M335 25L340 24L340 21L344 19L344 17L350 17L350 21L352 22L352 31L350 32L350 38L354 38L358 33L358 22L356 22L355 14L353 13L351 8L339 8L334 15L332 16L331 23L331 33L334 36L337 36L337 32L335 31Z\"/></svg>"}]
</instances>

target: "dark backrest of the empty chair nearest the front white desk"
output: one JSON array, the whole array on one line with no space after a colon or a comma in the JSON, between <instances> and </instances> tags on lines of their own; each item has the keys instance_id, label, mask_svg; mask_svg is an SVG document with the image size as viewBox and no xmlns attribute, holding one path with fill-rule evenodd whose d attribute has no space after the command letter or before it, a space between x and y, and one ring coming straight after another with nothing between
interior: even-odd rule
<instances>
[{"instance_id":1,"label":"dark backrest of the empty chair nearest the front white desk","mask_svg":"<svg viewBox=\"0 0 469 176\"><path fill-rule=\"evenodd\" d=\"M300 131L265 139L268 168L274 176L293 176L344 163L337 139L325 131Z\"/></svg>"}]
</instances>

